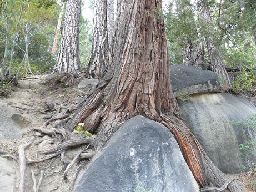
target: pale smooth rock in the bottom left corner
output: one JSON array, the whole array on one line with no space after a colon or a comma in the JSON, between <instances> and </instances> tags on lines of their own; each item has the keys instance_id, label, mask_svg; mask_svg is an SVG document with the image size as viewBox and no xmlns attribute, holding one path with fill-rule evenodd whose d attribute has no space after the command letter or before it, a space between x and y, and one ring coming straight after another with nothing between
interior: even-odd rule
<instances>
[{"instance_id":1,"label":"pale smooth rock in the bottom left corner","mask_svg":"<svg viewBox=\"0 0 256 192\"><path fill-rule=\"evenodd\" d=\"M0 157L0 191L13 192L16 186L14 164Z\"/></svg>"}]
</instances>

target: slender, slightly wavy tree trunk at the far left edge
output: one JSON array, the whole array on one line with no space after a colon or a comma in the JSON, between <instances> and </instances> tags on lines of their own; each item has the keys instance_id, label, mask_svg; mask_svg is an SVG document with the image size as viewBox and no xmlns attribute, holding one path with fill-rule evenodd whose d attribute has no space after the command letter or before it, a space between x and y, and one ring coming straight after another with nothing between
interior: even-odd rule
<instances>
[{"instance_id":1,"label":"slender, slightly wavy tree trunk at the far left edge","mask_svg":"<svg viewBox=\"0 0 256 192\"><path fill-rule=\"evenodd\" d=\"M8 3L9 2L6 1L6 5L4 6L3 11L2 11L4 27L6 28L6 45L4 47L4 55L3 55L3 62L2 62L2 72L0 71L0 80L4 79L4 75L5 75L5 72L6 72L7 54L8 54L8 47L9 47L8 17L6 18L6 16L5 16Z\"/></svg>"}]
</instances>

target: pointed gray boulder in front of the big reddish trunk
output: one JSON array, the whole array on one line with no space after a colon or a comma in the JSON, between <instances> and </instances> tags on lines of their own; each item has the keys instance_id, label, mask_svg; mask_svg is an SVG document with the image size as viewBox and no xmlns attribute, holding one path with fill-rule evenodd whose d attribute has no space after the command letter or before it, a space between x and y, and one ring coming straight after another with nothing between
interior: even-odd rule
<instances>
[{"instance_id":1,"label":"pointed gray boulder in front of the big reddish trunk","mask_svg":"<svg viewBox=\"0 0 256 192\"><path fill-rule=\"evenodd\" d=\"M142 116L125 122L89 164L76 191L199 191L169 129Z\"/></svg>"}]
</instances>

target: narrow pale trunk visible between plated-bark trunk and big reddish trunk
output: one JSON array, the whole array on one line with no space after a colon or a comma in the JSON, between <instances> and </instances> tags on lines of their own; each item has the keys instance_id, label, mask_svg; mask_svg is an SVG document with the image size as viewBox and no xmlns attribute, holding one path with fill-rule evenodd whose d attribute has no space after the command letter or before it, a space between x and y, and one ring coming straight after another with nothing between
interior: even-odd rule
<instances>
[{"instance_id":1,"label":"narrow pale trunk visible between plated-bark trunk and big reddish trunk","mask_svg":"<svg viewBox=\"0 0 256 192\"><path fill-rule=\"evenodd\" d=\"M114 36L114 0L107 0L107 2L108 44L109 49L111 49Z\"/></svg>"}]
</instances>

